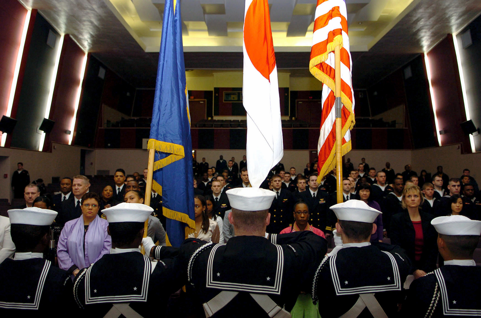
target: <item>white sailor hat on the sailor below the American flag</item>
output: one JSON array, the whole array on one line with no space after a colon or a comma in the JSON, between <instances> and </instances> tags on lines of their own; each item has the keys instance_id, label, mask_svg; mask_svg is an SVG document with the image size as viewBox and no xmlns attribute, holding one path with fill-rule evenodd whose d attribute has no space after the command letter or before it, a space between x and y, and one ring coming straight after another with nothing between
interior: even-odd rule
<instances>
[{"instance_id":1,"label":"white sailor hat on the sailor below the American flag","mask_svg":"<svg viewBox=\"0 0 481 318\"><path fill-rule=\"evenodd\" d=\"M330 207L339 220L372 223L381 211L369 207L361 200L347 200Z\"/></svg>"}]
</instances>

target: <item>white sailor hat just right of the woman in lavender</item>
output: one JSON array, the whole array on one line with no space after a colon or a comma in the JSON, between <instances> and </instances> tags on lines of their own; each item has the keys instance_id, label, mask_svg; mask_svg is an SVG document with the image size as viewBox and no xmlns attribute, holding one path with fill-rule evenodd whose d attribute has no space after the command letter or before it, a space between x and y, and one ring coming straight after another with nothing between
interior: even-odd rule
<instances>
[{"instance_id":1,"label":"white sailor hat just right of the woman in lavender","mask_svg":"<svg viewBox=\"0 0 481 318\"><path fill-rule=\"evenodd\" d=\"M153 208L145 204L127 202L122 202L112 208L102 210L102 213L105 214L109 223L145 222L152 212Z\"/></svg>"}]
</instances>

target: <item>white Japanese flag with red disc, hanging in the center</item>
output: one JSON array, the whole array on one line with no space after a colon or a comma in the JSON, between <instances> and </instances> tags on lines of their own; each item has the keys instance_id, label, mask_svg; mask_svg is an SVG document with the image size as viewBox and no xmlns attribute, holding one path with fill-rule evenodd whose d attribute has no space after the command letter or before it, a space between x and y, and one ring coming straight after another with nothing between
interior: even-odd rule
<instances>
[{"instance_id":1,"label":"white Japanese flag with red disc, hanging in the center","mask_svg":"<svg viewBox=\"0 0 481 318\"><path fill-rule=\"evenodd\" d=\"M242 99L247 111L249 181L259 187L284 155L276 57L267 0L246 0Z\"/></svg>"}]
</instances>

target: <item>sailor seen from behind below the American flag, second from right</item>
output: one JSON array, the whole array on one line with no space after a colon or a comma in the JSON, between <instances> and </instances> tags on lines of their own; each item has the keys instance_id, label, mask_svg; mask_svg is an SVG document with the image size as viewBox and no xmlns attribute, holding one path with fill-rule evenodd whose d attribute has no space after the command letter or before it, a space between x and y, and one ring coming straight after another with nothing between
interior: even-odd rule
<instances>
[{"instance_id":1,"label":"sailor seen from behind below the American flag, second from right","mask_svg":"<svg viewBox=\"0 0 481 318\"><path fill-rule=\"evenodd\" d=\"M371 244L380 211L360 200L333 205L342 246L336 246L316 270L312 295L322 318L396 317L411 264L404 250Z\"/></svg>"}]
</instances>

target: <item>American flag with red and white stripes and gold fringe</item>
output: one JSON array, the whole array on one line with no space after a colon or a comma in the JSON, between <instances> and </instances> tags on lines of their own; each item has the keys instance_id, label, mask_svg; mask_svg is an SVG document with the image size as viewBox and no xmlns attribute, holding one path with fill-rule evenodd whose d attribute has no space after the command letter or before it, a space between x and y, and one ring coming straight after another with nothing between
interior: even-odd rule
<instances>
[{"instance_id":1,"label":"American flag with red and white stripes and gold fringe","mask_svg":"<svg viewBox=\"0 0 481 318\"><path fill-rule=\"evenodd\" d=\"M318 182L336 165L336 109L334 107L334 48L341 45L342 156L351 150L354 91L351 79L347 11L343 0L317 0L309 70L322 87L322 119L317 144ZM338 167L341 169L341 167Z\"/></svg>"}]
</instances>

